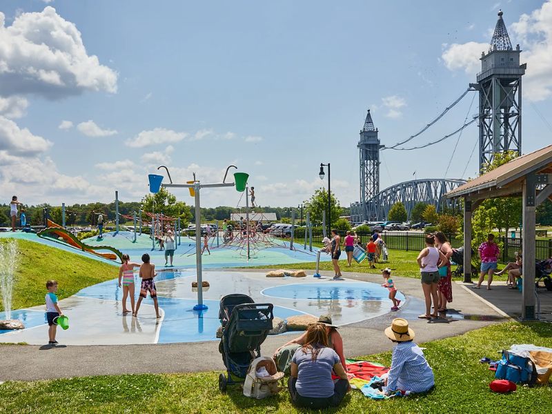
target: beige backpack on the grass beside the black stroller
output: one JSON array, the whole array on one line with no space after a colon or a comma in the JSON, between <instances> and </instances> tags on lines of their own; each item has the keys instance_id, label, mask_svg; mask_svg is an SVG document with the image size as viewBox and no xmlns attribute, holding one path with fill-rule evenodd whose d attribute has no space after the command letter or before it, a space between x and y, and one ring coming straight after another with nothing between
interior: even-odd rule
<instances>
[{"instance_id":1,"label":"beige backpack on the grass beside the black stroller","mask_svg":"<svg viewBox=\"0 0 552 414\"><path fill-rule=\"evenodd\" d=\"M266 370L266 373L269 375L259 376L257 370ZM246 397L257 398L257 400L275 395L284 389L278 384L283 377L284 373L277 371L276 364L272 358L255 358L247 371L244 382L244 395Z\"/></svg>"}]
</instances>

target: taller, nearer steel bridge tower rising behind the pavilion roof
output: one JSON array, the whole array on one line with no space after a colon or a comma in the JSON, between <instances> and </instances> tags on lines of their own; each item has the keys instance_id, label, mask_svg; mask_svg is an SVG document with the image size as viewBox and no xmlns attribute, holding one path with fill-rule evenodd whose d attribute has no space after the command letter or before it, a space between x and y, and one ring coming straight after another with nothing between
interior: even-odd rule
<instances>
[{"instance_id":1,"label":"taller, nearer steel bridge tower rising behind the pavilion roof","mask_svg":"<svg viewBox=\"0 0 552 414\"><path fill-rule=\"evenodd\" d=\"M479 166L497 152L522 151L522 76L520 45L512 48L502 10L498 12L489 52L481 56L481 72L471 86L479 91Z\"/></svg>"}]
</instances>

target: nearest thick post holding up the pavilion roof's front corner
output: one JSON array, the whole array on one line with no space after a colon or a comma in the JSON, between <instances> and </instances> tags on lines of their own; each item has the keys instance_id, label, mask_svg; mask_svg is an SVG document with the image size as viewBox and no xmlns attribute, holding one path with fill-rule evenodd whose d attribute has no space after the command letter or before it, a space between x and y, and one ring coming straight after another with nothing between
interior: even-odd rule
<instances>
[{"instance_id":1,"label":"nearest thick post holding up the pavilion roof's front corner","mask_svg":"<svg viewBox=\"0 0 552 414\"><path fill-rule=\"evenodd\" d=\"M526 175L523 191L522 251L523 293L522 319L535 319L535 174Z\"/></svg>"}]
</instances>

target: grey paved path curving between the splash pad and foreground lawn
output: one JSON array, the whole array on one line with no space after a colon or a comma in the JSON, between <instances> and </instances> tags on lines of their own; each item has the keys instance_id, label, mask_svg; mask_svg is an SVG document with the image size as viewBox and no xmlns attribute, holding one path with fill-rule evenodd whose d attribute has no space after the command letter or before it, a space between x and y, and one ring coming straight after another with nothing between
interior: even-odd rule
<instances>
[{"instance_id":1,"label":"grey paved path curving between the splash pad and foreground lawn","mask_svg":"<svg viewBox=\"0 0 552 414\"><path fill-rule=\"evenodd\" d=\"M240 270L244 271L244 270ZM258 269L252 271L259 271ZM323 272L330 276L330 272ZM344 273L344 277L381 283L380 275ZM368 355L391 349L391 342L383 330L394 317L409 320L416 333L416 341L460 335L504 319L493 308L481 302L477 296L453 286L454 301L447 319L426 321L417 319L424 313L420 280L393 277L397 288L407 297L406 304L395 313L368 319L339 329L344 339L346 357ZM339 282L336 282L339 283ZM486 320L480 320L485 315ZM288 342L291 335L268 337L262 346L263 355L271 355L278 346ZM144 344L117 346L0 346L0 381L42 380L57 377L88 375L115 375L132 373L181 373L192 371L223 370L218 342L187 344Z\"/></svg>"}]
</instances>

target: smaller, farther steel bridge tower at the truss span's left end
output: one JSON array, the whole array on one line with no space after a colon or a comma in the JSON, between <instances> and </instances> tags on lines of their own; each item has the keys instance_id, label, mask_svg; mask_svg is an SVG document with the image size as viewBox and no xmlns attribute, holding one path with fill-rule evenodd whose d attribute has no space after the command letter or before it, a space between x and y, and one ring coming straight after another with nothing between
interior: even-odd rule
<instances>
[{"instance_id":1,"label":"smaller, farther steel bridge tower at the truss span's left end","mask_svg":"<svg viewBox=\"0 0 552 414\"><path fill-rule=\"evenodd\" d=\"M368 109L364 126L360 130L357 148L360 155L360 208L363 220L377 219L377 210L371 201L380 193L380 139L377 128L374 128L372 116Z\"/></svg>"}]
</instances>

